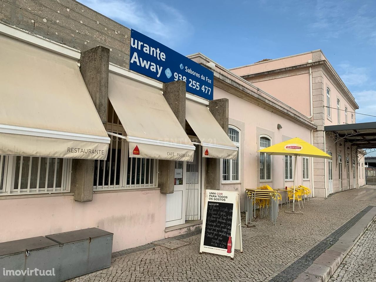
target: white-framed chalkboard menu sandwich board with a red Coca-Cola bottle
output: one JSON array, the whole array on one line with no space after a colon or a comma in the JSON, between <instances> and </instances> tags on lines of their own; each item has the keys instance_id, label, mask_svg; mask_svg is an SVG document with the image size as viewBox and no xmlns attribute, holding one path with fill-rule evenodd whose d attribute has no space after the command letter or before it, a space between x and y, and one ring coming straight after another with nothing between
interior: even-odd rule
<instances>
[{"instance_id":1,"label":"white-framed chalkboard menu sandwich board with a red Coca-Cola bottle","mask_svg":"<svg viewBox=\"0 0 376 282\"><path fill-rule=\"evenodd\" d=\"M243 252L239 192L206 190L200 253L233 258L235 249Z\"/></svg>"}]
</instances>

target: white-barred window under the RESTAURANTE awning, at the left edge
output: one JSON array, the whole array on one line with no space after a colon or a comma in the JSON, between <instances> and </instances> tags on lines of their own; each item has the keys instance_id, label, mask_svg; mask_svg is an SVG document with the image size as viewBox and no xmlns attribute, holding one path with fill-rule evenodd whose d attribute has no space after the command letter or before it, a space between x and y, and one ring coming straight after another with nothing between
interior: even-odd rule
<instances>
[{"instance_id":1,"label":"white-barred window under the RESTAURANTE awning, at the left edge","mask_svg":"<svg viewBox=\"0 0 376 282\"><path fill-rule=\"evenodd\" d=\"M0 195L70 191L71 160L0 156Z\"/></svg>"}]
</instances>

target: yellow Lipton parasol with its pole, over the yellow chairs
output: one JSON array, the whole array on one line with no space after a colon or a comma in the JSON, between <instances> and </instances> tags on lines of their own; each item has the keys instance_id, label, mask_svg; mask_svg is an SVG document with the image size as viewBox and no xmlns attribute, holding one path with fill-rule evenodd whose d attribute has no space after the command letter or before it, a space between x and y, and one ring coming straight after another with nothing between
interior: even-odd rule
<instances>
[{"instance_id":1,"label":"yellow Lipton parasol with its pole, over the yellow chairs","mask_svg":"<svg viewBox=\"0 0 376 282\"><path fill-rule=\"evenodd\" d=\"M306 141L298 137L275 144L273 146L259 150L258 152L267 153L269 155L295 156L293 212L295 211L294 210L295 209L295 176L296 176L297 156L324 158L324 159L332 158L327 153L323 152L322 150L318 149L317 147L307 143Z\"/></svg>"}]
</instances>

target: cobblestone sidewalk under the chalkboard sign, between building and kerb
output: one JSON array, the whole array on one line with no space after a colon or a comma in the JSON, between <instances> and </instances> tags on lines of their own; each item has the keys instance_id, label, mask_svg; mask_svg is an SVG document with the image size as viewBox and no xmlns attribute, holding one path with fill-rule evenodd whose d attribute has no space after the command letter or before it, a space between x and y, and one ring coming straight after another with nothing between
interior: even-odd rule
<instances>
[{"instance_id":1,"label":"cobblestone sidewalk under the chalkboard sign, between building and kerb","mask_svg":"<svg viewBox=\"0 0 376 282\"><path fill-rule=\"evenodd\" d=\"M256 220L257 228L243 227L243 253L235 251L233 260L200 255L200 233L193 232L114 253L111 267L68 281L292 281L331 246L343 224L352 226L364 209L376 206L376 186L313 199L304 206L301 215L287 214L283 206L276 226L263 218Z\"/></svg>"}]
</instances>

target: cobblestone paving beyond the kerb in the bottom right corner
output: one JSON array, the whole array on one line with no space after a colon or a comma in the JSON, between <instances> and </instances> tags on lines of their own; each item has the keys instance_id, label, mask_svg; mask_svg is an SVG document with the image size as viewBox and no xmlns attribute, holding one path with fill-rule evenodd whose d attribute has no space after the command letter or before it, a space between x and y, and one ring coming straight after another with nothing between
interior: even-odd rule
<instances>
[{"instance_id":1,"label":"cobblestone paving beyond the kerb in the bottom right corner","mask_svg":"<svg viewBox=\"0 0 376 282\"><path fill-rule=\"evenodd\" d=\"M376 281L376 222L374 221L352 247L329 282Z\"/></svg>"}]
</instances>

